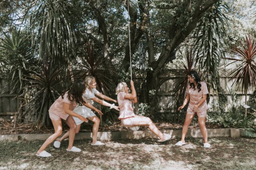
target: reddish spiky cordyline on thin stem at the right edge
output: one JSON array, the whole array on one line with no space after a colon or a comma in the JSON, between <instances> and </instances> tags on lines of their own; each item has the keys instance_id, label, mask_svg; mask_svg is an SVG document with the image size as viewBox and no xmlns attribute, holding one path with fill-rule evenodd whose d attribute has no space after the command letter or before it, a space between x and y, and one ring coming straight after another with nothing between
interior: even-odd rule
<instances>
[{"instance_id":1,"label":"reddish spiky cordyline on thin stem at the right edge","mask_svg":"<svg viewBox=\"0 0 256 170\"><path fill-rule=\"evenodd\" d=\"M231 79L235 79L233 84L242 85L242 89L245 92L245 106L247 105L247 91L251 87L256 86L256 45L250 35L246 36L246 45L241 43L241 47L233 47L230 49L230 53L234 54L240 59L226 58L234 60L234 62L240 62L236 68L230 72L229 75L233 75ZM231 62L230 64L233 64ZM228 64L228 65L230 65ZM230 80L231 80L230 79ZM230 81L229 80L229 81ZM247 117L247 108L245 107L245 117Z\"/></svg>"}]
</instances>

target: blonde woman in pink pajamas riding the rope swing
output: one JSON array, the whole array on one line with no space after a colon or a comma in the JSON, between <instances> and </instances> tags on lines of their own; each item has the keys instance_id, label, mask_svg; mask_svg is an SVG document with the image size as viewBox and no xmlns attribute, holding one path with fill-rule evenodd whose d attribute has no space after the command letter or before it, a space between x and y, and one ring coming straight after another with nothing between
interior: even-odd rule
<instances>
[{"instance_id":1,"label":"blonde woman in pink pajamas riding the rope swing","mask_svg":"<svg viewBox=\"0 0 256 170\"><path fill-rule=\"evenodd\" d=\"M160 132L154 123L145 116L134 114L132 103L137 103L137 94L134 88L134 82L131 80L131 94L125 82L120 82L116 88L117 101L120 109L119 118L125 127L148 126L149 129L159 137L159 142L171 139L171 136Z\"/></svg>"}]
</instances>

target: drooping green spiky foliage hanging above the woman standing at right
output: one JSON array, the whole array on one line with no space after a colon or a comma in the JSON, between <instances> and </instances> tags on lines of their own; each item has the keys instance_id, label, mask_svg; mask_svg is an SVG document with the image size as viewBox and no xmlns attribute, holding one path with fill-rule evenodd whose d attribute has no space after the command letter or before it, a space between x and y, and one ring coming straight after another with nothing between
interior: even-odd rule
<instances>
[{"instance_id":1,"label":"drooping green spiky foliage hanging above the woman standing at right","mask_svg":"<svg viewBox=\"0 0 256 170\"><path fill-rule=\"evenodd\" d=\"M198 46L198 57L196 63L204 70L212 88L218 93L220 90L218 67L220 59L224 57L225 26L228 18L224 14L229 6L218 2L205 14L198 23L195 31L195 46Z\"/></svg>"}]
</instances>

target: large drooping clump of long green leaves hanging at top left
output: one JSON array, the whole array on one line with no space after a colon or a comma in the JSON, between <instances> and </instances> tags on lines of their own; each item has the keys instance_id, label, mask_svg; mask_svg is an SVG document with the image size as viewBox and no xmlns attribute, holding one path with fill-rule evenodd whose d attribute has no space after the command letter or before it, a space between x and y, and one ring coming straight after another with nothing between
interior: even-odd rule
<instances>
[{"instance_id":1,"label":"large drooping clump of long green leaves hanging at top left","mask_svg":"<svg viewBox=\"0 0 256 170\"><path fill-rule=\"evenodd\" d=\"M34 4L34 6L32 5ZM70 25L67 0L38 0L29 4L29 27L34 32L33 41L44 64L51 61L55 67L68 67L74 49L74 30Z\"/></svg>"}]
</instances>

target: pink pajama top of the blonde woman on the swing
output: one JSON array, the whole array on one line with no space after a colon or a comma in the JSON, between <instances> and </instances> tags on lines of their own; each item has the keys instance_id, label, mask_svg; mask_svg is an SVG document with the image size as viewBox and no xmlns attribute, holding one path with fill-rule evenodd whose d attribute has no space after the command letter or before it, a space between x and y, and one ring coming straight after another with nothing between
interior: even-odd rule
<instances>
[{"instance_id":1,"label":"pink pajama top of the blonde woman on the swing","mask_svg":"<svg viewBox=\"0 0 256 170\"><path fill-rule=\"evenodd\" d=\"M125 92L120 92L117 95L117 101L119 105L120 114L118 119L125 119L128 117L134 117L134 109L132 108L132 100L125 99Z\"/></svg>"}]
</instances>

